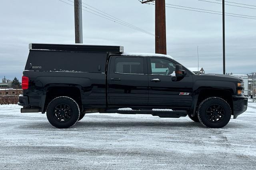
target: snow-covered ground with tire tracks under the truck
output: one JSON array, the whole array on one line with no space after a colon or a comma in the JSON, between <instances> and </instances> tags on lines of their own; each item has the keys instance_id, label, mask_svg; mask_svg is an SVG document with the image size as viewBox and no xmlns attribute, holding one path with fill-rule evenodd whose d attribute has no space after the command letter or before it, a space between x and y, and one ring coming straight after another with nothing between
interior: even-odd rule
<instances>
[{"instance_id":1,"label":"snow-covered ground with tire tracks under the truck","mask_svg":"<svg viewBox=\"0 0 256 170\"><path fill-rule=\"evenodd\" d=\"M87 114L69 129L0 105L1 169L255 169L256 104L221 129L188 117Z\"/></svg>"}]
</instances>

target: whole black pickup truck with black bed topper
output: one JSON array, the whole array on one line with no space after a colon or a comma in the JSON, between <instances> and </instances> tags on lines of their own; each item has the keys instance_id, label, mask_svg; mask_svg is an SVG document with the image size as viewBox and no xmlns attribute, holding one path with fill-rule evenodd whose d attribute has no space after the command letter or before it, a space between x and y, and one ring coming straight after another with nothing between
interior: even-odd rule
<instances>
[{"instance_id":1,"label":"whole black pickup truck with black bed topper","mask_svg":"<svg viewBox=\"0 0 256 170\"><path fill-rule=\"evenodd\" d=\"M189 116L222 128L247 109L243 79L195 75L168 55L124 53L122 46L31 43L21 113L42 112L57 128L86 113Z\"/></svg>"}]
</instances>

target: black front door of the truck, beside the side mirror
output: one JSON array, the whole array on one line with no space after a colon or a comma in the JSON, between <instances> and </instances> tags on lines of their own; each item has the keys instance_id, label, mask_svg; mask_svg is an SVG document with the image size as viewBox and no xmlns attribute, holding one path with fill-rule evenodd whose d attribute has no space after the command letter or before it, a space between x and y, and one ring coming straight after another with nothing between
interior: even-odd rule
<instances>
[{"instance_id":1,"label":"black front door of the truck, beside the side mirror","mask_svg":"<svg viewBox=\"0 0 256 170\"><path fill-rule=\"evenodd\" d=\"M175 77L176 62L169 58L148 58L149 102L151 106L191 107L192 75Z\"/></svg>"}]
</instances>

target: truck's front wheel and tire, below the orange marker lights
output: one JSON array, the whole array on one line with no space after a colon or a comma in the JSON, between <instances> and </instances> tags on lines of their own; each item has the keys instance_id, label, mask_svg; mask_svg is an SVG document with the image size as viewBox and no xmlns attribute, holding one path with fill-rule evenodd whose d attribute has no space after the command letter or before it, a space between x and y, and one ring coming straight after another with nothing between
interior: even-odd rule
<instances>
[{"instance_id":1,"label":"truck's front wheel and tire, below the orange marker lights","mask_svg":"<svg viewBox=\"0 0 256 170\"><path fill-rule=\"evenodd\" d=\"M231 118L230 105L219 97L209 97L198 107L198 119L207 128L222 128Z\"/></svg>"}]
</instances>

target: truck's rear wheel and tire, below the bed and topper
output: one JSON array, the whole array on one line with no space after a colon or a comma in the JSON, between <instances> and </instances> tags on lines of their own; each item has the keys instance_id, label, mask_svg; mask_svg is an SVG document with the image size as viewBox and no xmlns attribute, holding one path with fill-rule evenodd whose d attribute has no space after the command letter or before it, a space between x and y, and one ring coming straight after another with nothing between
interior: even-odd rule
<instances>
[{"instance_id":1,"label":"truck's rear wheel and tire, below the bed and topper","mask_svg":"<svg viewBox=\"0 0 256 170\"><path fill-rule=\"evenodd\" d=\"M52 126L56 128L69 128L78 121L80 109L74 99L62 96L53 99L49 103L46 115Z\"/></svg>"}]
</instances>

